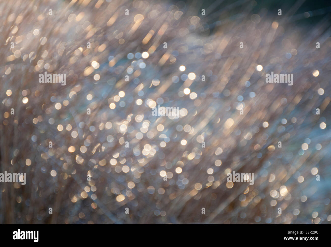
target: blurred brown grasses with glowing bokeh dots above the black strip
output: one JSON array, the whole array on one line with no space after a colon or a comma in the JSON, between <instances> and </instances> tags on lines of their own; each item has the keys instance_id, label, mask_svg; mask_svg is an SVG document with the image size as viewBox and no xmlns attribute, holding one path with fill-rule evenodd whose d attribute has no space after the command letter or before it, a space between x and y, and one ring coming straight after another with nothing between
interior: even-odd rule
<instances>
[{"instance_id":1,"label":"blurred brown grasses with glowing bokeh dots above the black strip","mask_svg":"<svg viewBox=\"0 0 331 247\"><path fill-rule=\"evenodd\" d=\"M329 5L1 0L0 223L329 224Z\"/></svg>"}]
</instances>

